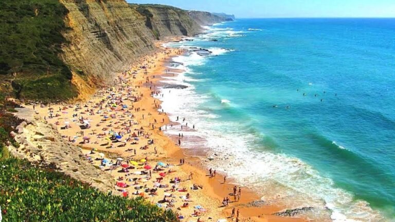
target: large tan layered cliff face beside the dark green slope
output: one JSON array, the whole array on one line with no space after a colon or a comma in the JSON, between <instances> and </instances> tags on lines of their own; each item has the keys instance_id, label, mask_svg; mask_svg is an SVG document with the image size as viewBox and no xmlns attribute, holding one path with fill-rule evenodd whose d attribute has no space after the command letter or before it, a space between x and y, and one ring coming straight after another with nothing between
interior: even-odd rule
<instances>
[{"instance_id":1,"label":"large tan layered cliff face beside the dark green slope","mask_svg":"<svg viewBox=\"0 0 395 222\"><path fill-rule=\"evenodd\" d=\"M123 0L60 0L68 9L62 59L89 85L112 79L125 61L154 50L145 18ZM80 81L81 82L81 81ZM81 84L82 87L84 84Z\"/></svg>"}]
</instances>

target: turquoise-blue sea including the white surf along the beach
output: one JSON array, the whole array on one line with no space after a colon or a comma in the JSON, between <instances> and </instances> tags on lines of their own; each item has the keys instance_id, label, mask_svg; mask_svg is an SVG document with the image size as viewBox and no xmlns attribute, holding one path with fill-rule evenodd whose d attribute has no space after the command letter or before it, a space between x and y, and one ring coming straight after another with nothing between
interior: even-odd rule
<instances>
[{"instance_id":1,"label":"turquoise-blue sea including the white surf along the beach","mask_svg":"<svg viewBox=\"0 0 395 222\"><path fill-rule=\"evenodd\" d=\"M168 45L190 50L165 81L188 88L163 90L171 119L195 125L184 147L270 204L314 207L308 218L395 221L395 19L206 28Z\"/></svg>"}]
</instances>

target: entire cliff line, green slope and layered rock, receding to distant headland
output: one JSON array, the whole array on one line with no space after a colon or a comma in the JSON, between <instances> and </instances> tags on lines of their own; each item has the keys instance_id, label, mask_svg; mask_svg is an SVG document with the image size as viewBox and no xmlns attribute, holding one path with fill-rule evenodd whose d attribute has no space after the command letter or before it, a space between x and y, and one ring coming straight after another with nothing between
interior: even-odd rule
<instances>
[{"instance_id":1,"label":"entire cliff line, green slope and layered rock, receding to distant headland","mask_svg":"<svg viewBox=\"0 0 395 222\"><path fill-rule=\"evenodd\" d=\"M92 94L125 62L155 50L155 40L194 35L201 25L227 20L209 12L124 0L4 1L0 92L21 99Z\"/></svg>"}]
</instances>

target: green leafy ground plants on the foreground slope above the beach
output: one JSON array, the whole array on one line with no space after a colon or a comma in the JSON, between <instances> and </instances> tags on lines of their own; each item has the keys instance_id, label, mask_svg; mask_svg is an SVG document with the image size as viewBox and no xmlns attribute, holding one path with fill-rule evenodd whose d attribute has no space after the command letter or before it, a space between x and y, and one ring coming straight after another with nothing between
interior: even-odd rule
<instances>
[{"instance_id":1,"label":"green leafy ground plants on the foreground slope above the beach","mask_svg":"<svg viewBox=\"0 0 395 222\"><path fill-rule=\"evenodd\" d=\"M104 194L24 160L3 159L0 166L3 221L177 221L141 198Z\"/></svg>"}]
</instances>

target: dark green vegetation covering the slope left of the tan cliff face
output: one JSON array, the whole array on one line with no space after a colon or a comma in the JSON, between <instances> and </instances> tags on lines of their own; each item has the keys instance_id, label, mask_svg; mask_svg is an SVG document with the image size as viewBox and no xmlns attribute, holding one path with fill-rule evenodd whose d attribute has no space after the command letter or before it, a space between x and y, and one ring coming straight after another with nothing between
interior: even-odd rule
<instances>
[{"instance_id":1,"label":"dark green vegetation covering the slope left of the tan cliff face","mask_svg":"<svg viewBox=\"0 0 395 222\"><path fill-rule=\"evenodd\" d=\"M61 34L67 29L67 13L57 0L1 1L0 80L12 86L13 96L41 100L76 96L71 71L59 58L61 45L67 44Z\"/></svg>"}]
</instances>

